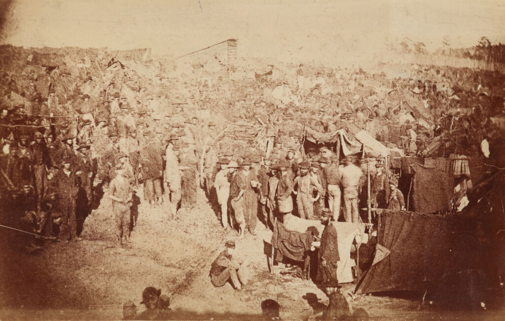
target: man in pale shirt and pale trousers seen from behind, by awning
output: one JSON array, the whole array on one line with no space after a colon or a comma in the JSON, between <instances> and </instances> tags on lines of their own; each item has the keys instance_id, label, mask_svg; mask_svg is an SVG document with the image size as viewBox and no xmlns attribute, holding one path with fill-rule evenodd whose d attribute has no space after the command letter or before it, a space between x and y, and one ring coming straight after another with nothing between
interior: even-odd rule
<instances>
[{"instance_id":1,"label":"man in pale shirt and pale trousers seen from behind, by awning","mask_svg":"<svg viewBox=\"0 0 505 321\"><path fill-rule=\"evenodd\" d=\"M357 223L360 219L358 212L359 189L364 183L364 175L361 169L355 165L356 156L347 156L345 166L342 168L343 198L345 204L345 221Z\"/></svg>"}]
</instances>

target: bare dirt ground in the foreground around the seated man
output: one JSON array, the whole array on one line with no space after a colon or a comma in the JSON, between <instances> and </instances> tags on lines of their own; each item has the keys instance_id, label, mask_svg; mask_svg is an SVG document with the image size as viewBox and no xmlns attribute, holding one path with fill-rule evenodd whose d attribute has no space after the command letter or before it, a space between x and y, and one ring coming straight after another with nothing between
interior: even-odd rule
<instances>
[{"instance_id":1,"label":"bare dirt ground in the foreground around the seated man","mask_svg":"<svg viewBox=\"0 0 505 321\"><path fill-rule=\"evenodd\" d=\"M141 192L139 192L141 195ZM261 223L258 235L238 240L235 231L223 232L202 191L192 211L168 219L165 205L139 206L132 245L117 247L110 219L110 203L103 200L84 225L80 242L46 243L37 254L2 249L0 319L121 319L122 305L140 305L146 286L162 289L171 298L177 319L259 319L261 302L274 299L282 319L307 319L313 307L302 298L326 295L312 281L269 272L264 240L271 232ZM237 252L252 278L237 292L227 284L215 288L210 266L224 241L235 239ZM497 311L441 311L420 301L388 296L352 296L354 285L343 293L351 310L364 308L372 319L503 319ZM319 304L320 305L320 304ZM142 306L138 308L140 312Z\"/></svg>"}]
</instances>

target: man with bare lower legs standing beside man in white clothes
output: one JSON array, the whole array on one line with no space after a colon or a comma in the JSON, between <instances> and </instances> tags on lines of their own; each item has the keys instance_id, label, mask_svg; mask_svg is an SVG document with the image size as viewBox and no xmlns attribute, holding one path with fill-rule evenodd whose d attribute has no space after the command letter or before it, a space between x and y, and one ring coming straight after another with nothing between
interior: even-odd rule
<instances>
[{"instance_id":1,"label":"man with bare lower legs standing beside man in white clothes","mask_svg":"<svg viewBox=\"0 0 505 321\"><path fill-rule=\"evenodd\" d=\"M240 237L244 237L245 230L245 189L247 188L247 162L240 163L240 169L233 174L230 183L230 204L235 216L235 222L239 225Z\"/></svg>"}]
</instances>

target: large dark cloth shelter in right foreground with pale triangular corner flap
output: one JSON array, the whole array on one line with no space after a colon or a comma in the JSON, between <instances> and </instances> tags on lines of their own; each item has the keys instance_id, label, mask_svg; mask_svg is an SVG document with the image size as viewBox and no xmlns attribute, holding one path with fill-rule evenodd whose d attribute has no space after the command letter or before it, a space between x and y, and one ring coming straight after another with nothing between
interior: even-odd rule
<instances>
[{"instance_id":1,"label":"large dark cloth shelter in right foreground with pale triangular corner flap","mask_svg":"<svg viewBox=\"0 0 505 321\"><path fill-rule=\"evenodd\" d=\"M468 223L459 216L383 212L373 264L355 292L433 290L451 275L484 269L487 259Z\"/></svg>"}]
</instances>

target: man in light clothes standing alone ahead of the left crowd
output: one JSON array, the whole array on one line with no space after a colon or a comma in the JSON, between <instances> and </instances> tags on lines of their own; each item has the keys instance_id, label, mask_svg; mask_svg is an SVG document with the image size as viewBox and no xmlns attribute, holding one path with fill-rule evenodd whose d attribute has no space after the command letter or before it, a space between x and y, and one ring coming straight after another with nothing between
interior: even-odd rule
<instances>
[{"instance_id":1,"label":"man in light clothes standing alone ahead of the left crowd","mask_svg":"<svg viewBox=\"0 0 505 321\"><path fill-rule=\"evenodd\" d=\"M116 222L116 237L119 245L130 241L130 219L133 189L124 176L123 165L116 164L116 177L109 184L109 198L113 201L112 208Z\"/></svg>"}]
</instances>

